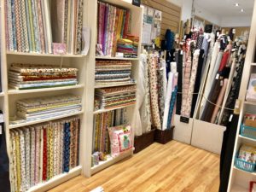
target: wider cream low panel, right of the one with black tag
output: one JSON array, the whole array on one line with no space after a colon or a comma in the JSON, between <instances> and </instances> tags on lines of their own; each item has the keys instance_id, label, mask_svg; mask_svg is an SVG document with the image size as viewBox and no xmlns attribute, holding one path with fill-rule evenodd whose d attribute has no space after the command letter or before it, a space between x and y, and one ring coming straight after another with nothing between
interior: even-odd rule
<instances>
[{"instance_id":1,"label":"wider cream low panel, right of the one with black tag","mask_svg":"<svg viewBox=\"0 0 256 192\"><path fill-rule=\"evenodd\" d=\"M225 126L194 119L191 145L220 154Z\"/></svg>"}]
</instances>

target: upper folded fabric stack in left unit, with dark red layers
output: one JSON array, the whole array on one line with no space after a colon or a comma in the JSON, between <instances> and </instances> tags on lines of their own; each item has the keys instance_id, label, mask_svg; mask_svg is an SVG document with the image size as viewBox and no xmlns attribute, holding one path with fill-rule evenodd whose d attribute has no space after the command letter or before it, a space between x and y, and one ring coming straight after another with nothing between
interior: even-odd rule
<instances>
[{"instance_id":1,"label":"upper folded fabric stack in left unit, with dark red layers","mask_svg":"<svg viewBox=\"0 0 256 192\"><path fill-rule=\"evenodd\" d=\"M54 65L12 64L9 86L16 90L39 89L78 84L77 68Z\"/></svg>"}]
</instances>

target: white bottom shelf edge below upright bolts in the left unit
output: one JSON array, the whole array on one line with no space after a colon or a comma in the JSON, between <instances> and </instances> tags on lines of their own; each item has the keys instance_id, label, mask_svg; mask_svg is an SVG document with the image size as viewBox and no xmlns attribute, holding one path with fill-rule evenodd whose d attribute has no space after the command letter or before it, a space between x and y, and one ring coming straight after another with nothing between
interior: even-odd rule
<instances>
[{"instance_id":1,"label":"white bottom shelf edge below upright bolts in the left unit","mask_svg":"<svg viewBox=\"0 0 256 192\"><path fill-rule=\"evenodd\" d=\"M82 166L77 166L71 169L69 172L62 173L61 175L55 176L49 181L45 183L38 183L36 186L33 186L31 189L28 189L27 192L33 192L33 191L45 191L48 189L51 189L63 182L66 182L72 177L79 176L82 171Z\"/></svg>"}]
</instances>

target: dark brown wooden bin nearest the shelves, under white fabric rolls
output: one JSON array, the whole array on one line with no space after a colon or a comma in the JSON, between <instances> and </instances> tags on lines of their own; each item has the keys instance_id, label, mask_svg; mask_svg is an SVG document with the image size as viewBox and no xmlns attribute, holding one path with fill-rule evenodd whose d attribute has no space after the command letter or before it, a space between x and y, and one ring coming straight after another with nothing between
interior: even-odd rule
<instances>
[{"instance_id":1,"label":"dark brown wooden bin nearest the shelves, under white fabric rolls","mask_svg":"<svg viewBox=\"0 0 256 192\"><path fill-rule=\"evenodd\" d=\"M134 154L147 148L152 143L154 143L154 130L144 133L142 136L136 136L134 138Z\"/></svg>"}]
</instances>

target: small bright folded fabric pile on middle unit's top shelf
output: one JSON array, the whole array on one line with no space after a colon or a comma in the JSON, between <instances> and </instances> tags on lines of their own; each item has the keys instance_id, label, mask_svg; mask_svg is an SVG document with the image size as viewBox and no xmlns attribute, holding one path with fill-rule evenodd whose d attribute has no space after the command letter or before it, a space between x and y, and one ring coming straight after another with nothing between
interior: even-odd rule
<instances>
[{"instance_id":1,"label":"small bright folded fabric pile on middle unit's top shelf","mask_svg":"<svg viewBox=\"0 0 256 192\"><path fill-rule=\"evenodd\" d=\"M119 38L117 42L117 52L123 53L124 57L137 57L137 47L133 45L133 41L127 38Z\"/></svg>"}]
</instances>

